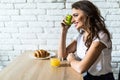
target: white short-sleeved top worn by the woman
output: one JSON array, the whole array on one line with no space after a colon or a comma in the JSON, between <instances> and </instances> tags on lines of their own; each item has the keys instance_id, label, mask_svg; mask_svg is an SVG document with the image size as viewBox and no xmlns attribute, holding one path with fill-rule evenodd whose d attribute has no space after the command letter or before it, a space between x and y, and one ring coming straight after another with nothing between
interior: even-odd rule
<instances>
[{"instance_id":1,"label":"white short-sleeved top worn by the woman","mask_svg":"<svg viewBox=\"0 0 120 80\"><path fill-rule=\"evenodd\" d=\"M112 51L112 42L108 41L108 36L106 33L99 33L100 39L96 38L93 41L100 41L107 48L102 50L102 53L95 61L95 63L89 68L88 72L92 75L99 76L102 74L106 74L112 71L111 67L111 51ZM77 38L77 51L76 54L79 58L83 59L86 54L87 47L85 46L85 42L83 42L83 35L79 35Z\"/></svg>"}]
</instances>

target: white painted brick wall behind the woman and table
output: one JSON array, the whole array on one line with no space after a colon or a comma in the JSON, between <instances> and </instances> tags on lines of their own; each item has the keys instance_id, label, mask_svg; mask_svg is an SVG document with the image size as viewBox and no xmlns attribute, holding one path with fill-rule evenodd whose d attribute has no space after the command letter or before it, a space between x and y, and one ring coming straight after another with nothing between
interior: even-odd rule
<instances>
[{"instance_id":1,"label":"white painted brick wall behind the woman and table","mask_svg":"<svg viewBox=\"0 0 120 80\"><path fill-rule=\"evenodd\" d=\"M25 50L57 50L60 22L79 0L0 0L0 70ZM120 0L91 0L101 10L113 41L112 66L120 66ZM70 28L67 44L76 34Z\"/></svg>"}]
</instances>

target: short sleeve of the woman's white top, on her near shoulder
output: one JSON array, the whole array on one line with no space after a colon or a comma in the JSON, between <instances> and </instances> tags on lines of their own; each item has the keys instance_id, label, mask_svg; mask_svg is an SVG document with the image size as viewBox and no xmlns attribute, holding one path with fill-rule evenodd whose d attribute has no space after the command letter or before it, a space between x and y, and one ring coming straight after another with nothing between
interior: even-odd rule
<instances>
[{"instance_id":1,"label":"short sleeve of the woman's white top, on her near shoulder","mask_svg":"<svg viewBox=\"0 0 120 80\"><path fill-rule=\"evenodd\" d=\"M109 40L108 35L106 33L100 32L98 35L99 35L100 39L96 38L96 39L94 39L94 41L102 42L107 48L112 47L112 42L111 42L111 40Z\"/></svg>"}]
</instances>

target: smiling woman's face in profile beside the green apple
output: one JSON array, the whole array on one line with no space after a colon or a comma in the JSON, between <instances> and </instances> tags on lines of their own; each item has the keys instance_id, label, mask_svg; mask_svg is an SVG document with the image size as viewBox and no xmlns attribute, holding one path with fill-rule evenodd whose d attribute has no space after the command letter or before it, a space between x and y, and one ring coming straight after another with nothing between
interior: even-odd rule
<instances>
[{"instance_id":1,"label":"smiling woman's face in profile beside the green apple","mask_svg":"<svg viewBox=\"0 0 120 80\"><path fill-rule=\"evenodd\" d=\"M80 9L72 9L72 15L73 15L73 23L75 24L76 29L80 30L83 28L83 21L84 21L84 13Z\"/></svg>"}]
</instances>

